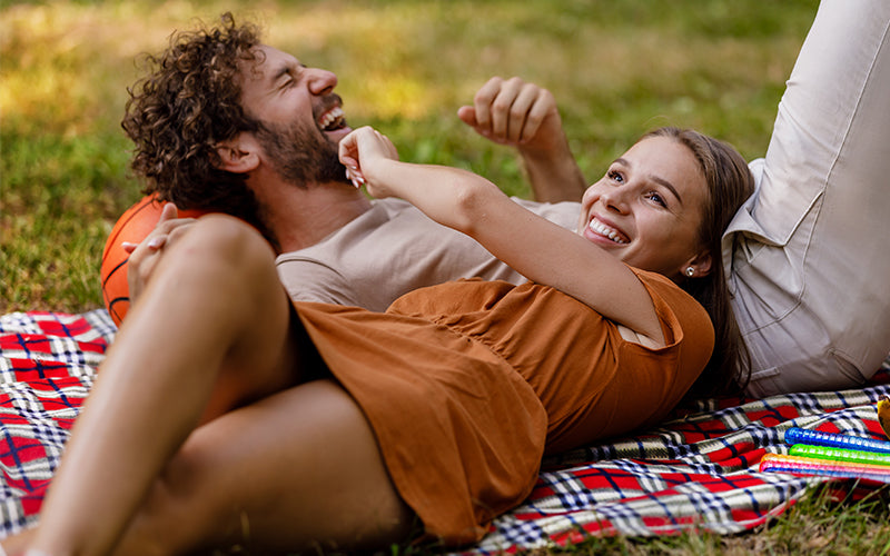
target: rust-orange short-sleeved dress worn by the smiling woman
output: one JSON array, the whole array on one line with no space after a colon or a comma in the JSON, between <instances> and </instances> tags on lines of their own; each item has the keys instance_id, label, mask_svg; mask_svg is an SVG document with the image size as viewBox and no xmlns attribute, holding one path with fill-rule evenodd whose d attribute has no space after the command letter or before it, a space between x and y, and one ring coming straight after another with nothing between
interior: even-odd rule
<instances>
[{"instance_id":1,"label":"rust-orange short-sleeved dress worn by the smiling woman","mask_svg":"<svg viewBox=\"0 0 890 556\"><path fill-rule=\"evenodd\" d=\"M635 270L666 346L537 284L461 280L385 314L295 302L334 377L362 407L402 498L446 544L479 539L532 490L546 453L664 418L704 368L713 328L666 278Z\"/></svg>"}]
</instances>

